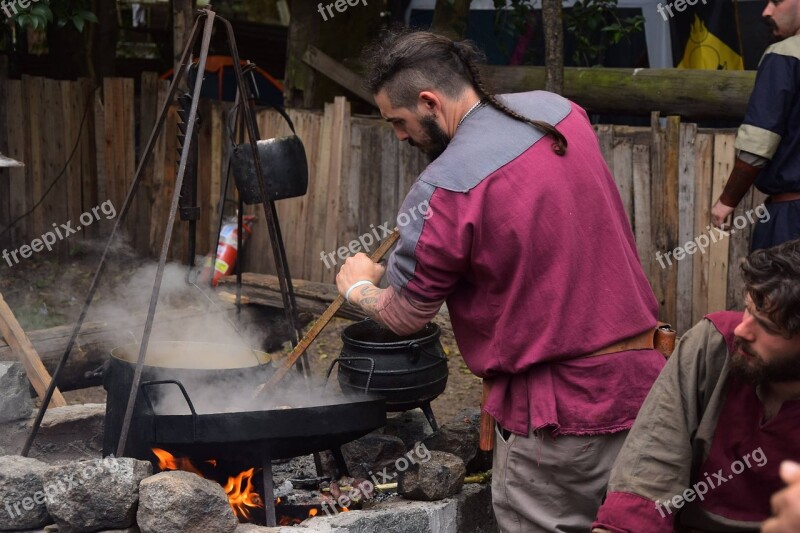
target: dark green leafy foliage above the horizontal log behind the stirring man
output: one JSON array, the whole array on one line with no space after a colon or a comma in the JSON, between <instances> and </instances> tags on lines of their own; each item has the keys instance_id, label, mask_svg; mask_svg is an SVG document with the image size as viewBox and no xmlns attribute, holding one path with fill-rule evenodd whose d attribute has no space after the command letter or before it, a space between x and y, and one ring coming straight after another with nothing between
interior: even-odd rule
<instances>
[{"instance_id":1,"label":"dark green leafy foliage above the horizontal log behind the stirring man","mask_svg":"<svg viewBox=\"0 0 800 533\"><path fill-rule=\"evenodd\" d=\"M508 0L509 10L505 18L509 31L522 35L528 24L534 20L532 11L535 0ZM494 0L495 9L507 5L506 0ZM499 20L499 19L497 19ZM617 0L579 0L564 10L564 31L575 39L572 61L579 66L600 65L606 50L612 44L629 40L630 36L644 30L644 17L620 18L617 14Z\"/></svg>"}]
</instances>

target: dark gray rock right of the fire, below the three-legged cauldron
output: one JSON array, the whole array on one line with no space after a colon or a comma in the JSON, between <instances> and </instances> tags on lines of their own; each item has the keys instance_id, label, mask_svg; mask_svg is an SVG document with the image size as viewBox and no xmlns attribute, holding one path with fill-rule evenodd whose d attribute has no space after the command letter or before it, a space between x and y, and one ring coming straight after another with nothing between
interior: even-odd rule
<instances>
[{"instance_id":1,"label":"dark gray rock right of the fire, below the three-legged cauldron","mask_svg":"<svg viewBox=\"0 0 800 533\"><path fill-rule=\"evenodd\" d=\"M397 492L409 500L442 500L461 491L466 473L460 457L433 451L429 461L417 462L400 472Z\"/></svg>"}]
</instances>

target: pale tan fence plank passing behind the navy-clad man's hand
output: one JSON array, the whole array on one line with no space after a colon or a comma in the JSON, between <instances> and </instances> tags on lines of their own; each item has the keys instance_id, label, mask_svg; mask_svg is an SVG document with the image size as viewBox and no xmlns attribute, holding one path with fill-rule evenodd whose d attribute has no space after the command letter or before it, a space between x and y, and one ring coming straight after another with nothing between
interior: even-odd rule
<instances>
[{"instance_id":1,"label":"pale tan fence plank passing behind the navy-clad man's hand","mask_svg":"<svg viewBox=\"0 0 800 533\"><path fill-rule=\"evenodd\" d=\"M714 167L711 187L711 198L719 198L725 183L728 181L735 150L733 147L736 135L733 133L717 133L714 135ZM730 241L720 237L720 232L713 227L708 230L711 242L708 273L708 308L709 312L722 311L727 304L728 296L728 249Z\"/></svg>"}]
</instances>

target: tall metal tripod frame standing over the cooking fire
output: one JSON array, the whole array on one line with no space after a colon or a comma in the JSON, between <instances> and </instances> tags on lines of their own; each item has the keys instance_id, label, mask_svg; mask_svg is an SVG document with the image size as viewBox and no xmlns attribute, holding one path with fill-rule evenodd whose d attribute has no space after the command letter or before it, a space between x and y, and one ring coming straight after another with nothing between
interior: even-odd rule
<instances>
[{"instance_id":1,"label":"tall metal tripod frame standing over the cooking fire","mask_svg":"<svg viewBox=\"0 0 800 533\"><path fill-rule=\"evenodd\" d=\"M27 441L25 442L25 446L23 447L21 453L21 455L23 456L28 455L31 446L33 444L33 441L36 438L36 434L38 433L42 419L44 418L44 413L47 410L47 406L50 404L53 392L57 386L58 376L61 372L61 369L64 367L67 360L69 359L70 353L72 352L72 348L75 345L75 341L86 319L89 306L91 305L95 292L97 290L98 281L100 279L100 276L103 274L103 271L105 270L107 257L111 250L112 243L114 242L114 239L119 229L122 227L126 215L130 210L133 199L136 196L136 193L139 189L139 184L141 182L143 169L147 164L148 159L153 153L155 141L158 138L161 130L163 129L164 121L166 119L169 106L171 103L175 101L175 97L178 92L178 85L180 81L183 79L183 77L186 75L192 57L192 49L197 43L198 37L200 37L202 32L202 43L200 46L200 57L198 60L198 76L194 81L194 87L192 89L191 108L189 110L188 117L186 119L186 130L185 130L186 142L183 143L183 147L181 150L180 164L178 167L178 174L175 180L175 191L173 193L172 202L170 204L167 227L165 228L164 231L164 240L161 245L161 253L159 256L158 269L156 271L155 282L153 284L153 291L150 297L150 306L148 309L147 320L145 322L144 333L142 335L142 341L139 348L139 355L136 361L136 371L134 373L133 383L131 384L130 395L128 397L127 408L125 411L125 418L123 420L122 432L120 434L120 439L116 450L117 457L121 457L125 454L125 445L127 442L128 432L130 430L131 419L133 416L133 409L136 403L136 398L138 395L142 377L142 367L144 366L144 359L147 353L147 347L153 329L153 319L155 316L156 305L158 303L159 291L161 289L161 281L164 275L164 267L166 264L167 253L169 251L172 230L175 225L175 217L178 212L178 205L180 202L181 191L183 188L184 176L186 175L187 164L190 159L190 151L192 149L192 144L193 144L192 143L193 134L195 127L197 125L196 124L197 107L200 98L200 88L203 82L202 74L203 72L205 72L205 65L206 65L206 60L208 58L209 44L211 42L211 34L214 27L214 22L217 18L220 21L222 21L223 25L225 26L225 30L227 32L228 43L230 45L231 55L233 56L233 68L236 74L236 82L237 86L239 87L239 91L241 94L248 94L246 92L247 86L245 85L244 77L242 75L242 68L239 60L239 52L236 48L236 41L234 39L233 28L231 27L230 22L228 22L226 19L222 17L217 17L216 13L211 9L201 10L197 19L195 20L194 26L192 27L192 32L189 37L189 41L183 50L183 54L181 55L180 67L178 68L178 71L175 73L172 83L170 84L169 94L167 96L167 99L161 107L156 125L150 134L150 138L147 141L147 145L144 148L144 152L136 168L136 173L134 175L133 182L131 183L130 189L128 190L128 194L125 197L125 201L119 212L119 216L116 219L114 228L111 231L111 235L109 236L108 241L106 242L105 249L103 250L103 255L100 258L100 263L98 264L97 270L95 271L94 277L92 278L91 285L89 286L89 291L86 295L86 300L84 301L83 308L81 309L80 316L78 317L78 322L75 324L75 327L72 331L72 335L70 336L69 342L67 343L67 347L64 350L64 355L61 357L61 360L59 361L58 366L56 367L55 372L53 373L53 379L51 380L50 386L48 387L45 397L42 401L42 406L39 408L39 412L37 413L36 420L33 424L33 428L31 429L31 433L28 436ZM204 21L202 30L201 30L201 21ZM297 314L296 314L294 290L292 287L292 282L289 274L288 263L286 261L286 254L283 250L283 241L281 240L280 227L278 226L278 219L277 219L277 212L275 209L275 205L274 202L271 202L269 200L267 191L265 190L264 186L264 179L263 179L264 173L261 167L261 159L258 154L258 149L256 147L256 141L258 140L258 130L256 127L255 112L252 101L246 100L244 98L242 99L242 115L244 119L243 120L244 125L246 126L247 129L249 144L253 153L253 161L256 168L256 174L260 178L259 187L261 189L260 192L264 207L264 214L266 216L267 226L269 228L270 240L272 242L272 251L273 255L275 256L275 265L278 271L278 279L280 281L281 296L283 299L284 310L286 312L286 316L289 323L292 325L292 343L296 345L298 338L301 335L299 335L299 328L297 326ZM222 208L224 208L224 206L220 207L220 209ZM241 228L241 210L240 210L239 221ZM241 237L241 229L239 233ZM239 275L237 279L240 285L241 275ZM241 287L239 286L237 289L237 305L241 304L240 294L241 294ZM267 503L268 502L265 502L265 504ZM269 504L267 504L266 506L269 507Z\"/></svg>"}]
</instances>

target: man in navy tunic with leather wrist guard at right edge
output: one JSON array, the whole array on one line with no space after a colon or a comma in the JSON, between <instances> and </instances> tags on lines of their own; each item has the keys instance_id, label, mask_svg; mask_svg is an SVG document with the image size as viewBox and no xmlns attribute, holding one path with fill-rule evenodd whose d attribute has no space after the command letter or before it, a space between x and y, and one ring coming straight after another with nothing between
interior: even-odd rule
<instances>
[{"instance_id":1,"label":"man in navy tunic with leather wrist guard at right edge","mask_svg":"<svg viewBox=\"0 0 800 533\"><path fill-rule=\"evenodd\" d=\"M722 228L754 183L770 196L769 221L753 229L751 251L800 237L800 0L770 0L762 15L782 41L761 58L733 171L711 208Z\"/></svg>"}]
</instances>

